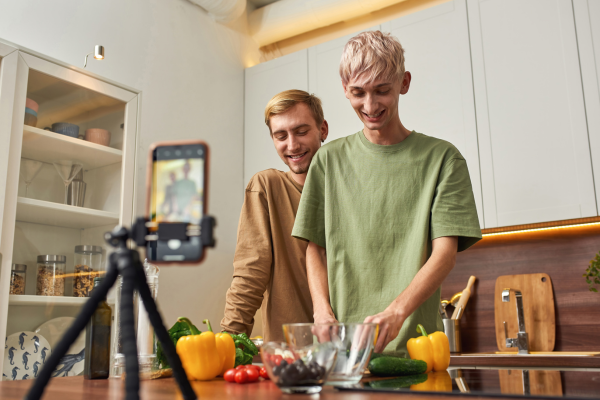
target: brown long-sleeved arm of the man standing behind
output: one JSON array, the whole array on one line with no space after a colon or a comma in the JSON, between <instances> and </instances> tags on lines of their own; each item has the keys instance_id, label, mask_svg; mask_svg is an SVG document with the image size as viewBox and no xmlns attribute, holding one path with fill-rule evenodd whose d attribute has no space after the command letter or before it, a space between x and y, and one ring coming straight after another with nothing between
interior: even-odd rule
<instances>
[{"instance_id":1,"label":"brown long-sleeved arm of the man standing behind","mask_svg":"<svg viewBox=\"0 0 600 400\"><path fill-rule=\"evenodd\" d=\"M227 291L221 328L230 333L252 333L271 279L273 262L268 203L261 191L246 190L233 259L233 281Z\"/></svg>"}]
</instances>

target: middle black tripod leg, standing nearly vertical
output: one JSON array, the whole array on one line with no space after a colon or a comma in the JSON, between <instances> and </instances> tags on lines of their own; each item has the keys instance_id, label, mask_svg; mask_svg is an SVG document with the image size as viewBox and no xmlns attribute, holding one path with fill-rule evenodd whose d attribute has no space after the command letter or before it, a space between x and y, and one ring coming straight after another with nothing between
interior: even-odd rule
<instances>
[{"instance_id":1,"label":"middle black tripod leg, standing nearly vertical","mask_svg":"<svg viewBox=\"0 0 600 400\"><path fill-rule=\"evenodd\" d=\"M122 250L129 252L123 256L119 265L123 276L121 289L121 340L123 341L123 354L125 355L125 399L139 400L140 395L140 367L137 358L137 343L135 339L135 320L133 314L133 294L136 280L136 263L139 255L135 250ZM133 254L133 253L136 254Z\"/></svg>"}]
</instances>

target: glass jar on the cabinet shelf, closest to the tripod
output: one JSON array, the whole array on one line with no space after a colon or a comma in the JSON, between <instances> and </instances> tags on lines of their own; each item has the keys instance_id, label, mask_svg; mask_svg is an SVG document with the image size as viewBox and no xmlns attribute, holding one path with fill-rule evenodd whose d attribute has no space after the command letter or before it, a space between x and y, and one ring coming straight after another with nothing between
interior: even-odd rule
<instances>
[{"instance_id":1,"label":"glass jar on the cabinet shelf, closest to the tripod","mask_svg":"<svg viewBox=\"0 0 600 400\"><path fill-rule=\"evenodd\" d=\"M73 297L89 297L94 287L94 278L104 275L102 247L75 246L75 267L73 268Z\"/></svg>"}]
</instances>

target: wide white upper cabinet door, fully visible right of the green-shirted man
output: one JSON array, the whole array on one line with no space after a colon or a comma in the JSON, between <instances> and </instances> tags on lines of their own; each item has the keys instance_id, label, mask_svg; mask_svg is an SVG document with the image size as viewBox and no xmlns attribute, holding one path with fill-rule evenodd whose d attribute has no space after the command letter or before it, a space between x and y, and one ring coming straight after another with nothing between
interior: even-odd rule
<instances>
[{"instance_id":1,"label":"wide white upper cabinet door, fully visible right of the green-shirted man","mask_svg":"<svg viewBox=\"0 0 600 400\"><path fill-rule=\"evenodd\" d=\"M570 0L468 0L486 228L597 215Z\"/></svg>"}]
</instances>

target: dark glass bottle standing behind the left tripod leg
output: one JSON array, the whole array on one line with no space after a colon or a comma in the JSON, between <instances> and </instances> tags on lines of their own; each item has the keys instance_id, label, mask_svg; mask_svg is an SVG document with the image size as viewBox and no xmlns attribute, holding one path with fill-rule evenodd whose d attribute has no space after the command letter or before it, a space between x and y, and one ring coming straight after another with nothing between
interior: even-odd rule
<instances>
[{"instance_id":1,"label":"dark glass bottle standing behind the left tripod leg","mask_svg":"<svg viewBox=\"0 0 600 400\"><path fill-rule=\"evenodd\" d=\"M94 287L102 278L94 278ZM112 310L106 298L98 304L85 330L85 379L107 379L110 373L110 327Z\"/></svg>"}]
</instances>

